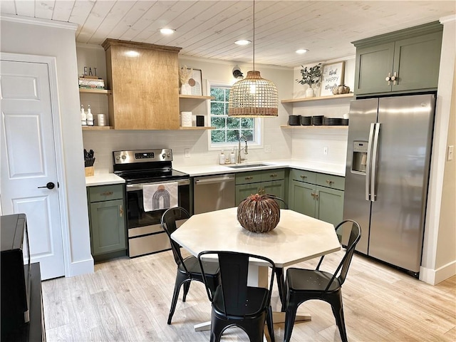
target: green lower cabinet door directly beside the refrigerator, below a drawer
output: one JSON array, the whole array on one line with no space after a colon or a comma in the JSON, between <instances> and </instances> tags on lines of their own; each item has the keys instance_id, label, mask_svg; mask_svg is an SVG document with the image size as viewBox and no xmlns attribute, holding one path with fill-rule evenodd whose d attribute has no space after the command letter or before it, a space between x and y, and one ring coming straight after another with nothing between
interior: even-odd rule
<instances>
[{"instance_id":1,"label":"green lower cabinet door directly beside the refrigerator, below a drawer","mask_svg":"<svg viewBox=\"0 0 456 342\"><path fill-rule=\"evenodd\" d=\"M343 191L328 187L316 187L318 205L316 218L334 225L343 218Z\"/></svg>"}]
</instances>

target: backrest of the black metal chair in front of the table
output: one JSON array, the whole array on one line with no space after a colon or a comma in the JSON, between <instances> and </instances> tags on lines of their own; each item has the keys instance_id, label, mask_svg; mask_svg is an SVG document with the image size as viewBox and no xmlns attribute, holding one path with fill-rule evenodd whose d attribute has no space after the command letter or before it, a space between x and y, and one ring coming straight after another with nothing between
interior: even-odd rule
<instances>
[{"instance_id":1,"label":"backrest of the black metal chair in front of the table","mask_svg":"<svg viewBox=\"0 0 456 342\"><path fill-rule=\"evenodd\" d=\"M276 265L274 261L259 255L238 253L238 252L224 252L224 251L205 251L198 254L199 266L201 266L204 284L206 284L206 276L204 274L204 256L208 254L213 256L217 255L219 260L220 269L220 287L224 301L224 314L226 316L244 316L247 306L245 305L247 299L247 277L249 273L249 261L254 259L261 259L266 261L267 265L272 268L271 276L269 277L269 291L265 301L266 307L269 306L271 301L272 285L274 284L274 271ZM207 296L212 302L212 294L206 284Z\"/></svg>"}]
</instances>

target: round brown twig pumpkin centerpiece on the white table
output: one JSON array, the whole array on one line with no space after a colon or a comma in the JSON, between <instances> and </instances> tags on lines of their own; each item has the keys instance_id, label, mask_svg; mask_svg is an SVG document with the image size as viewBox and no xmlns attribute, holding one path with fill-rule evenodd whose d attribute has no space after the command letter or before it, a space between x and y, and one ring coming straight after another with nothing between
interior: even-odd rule
<instances>
[{"instance_id":1,"label":"round brown twig pumpkin centerpiece on the white table","mask_svg":"<svg viewBox=\"0 0 456 342\"><path fill-rule=\"evenodd\" d=\"M237 220L249 232L271 232L279 224L279 204L272 195L250 195L237 207Z\"/></svg>"}]
</instances>

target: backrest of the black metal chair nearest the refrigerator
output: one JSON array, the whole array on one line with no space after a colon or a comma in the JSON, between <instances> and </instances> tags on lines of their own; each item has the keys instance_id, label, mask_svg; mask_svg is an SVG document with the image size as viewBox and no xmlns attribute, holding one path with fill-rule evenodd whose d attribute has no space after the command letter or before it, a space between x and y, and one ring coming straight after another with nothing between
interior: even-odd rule
<instances>
[{"instance_id":1,"label":"backrest of the black metal chair nearest the refrigerator","mask_svg":"<svg viewBox=\"0 0 456 342\"><path fill-rule=\"evenodd\" d=\"M350 235L348 237L348 242L346 244L345 255L343 256L341 262L338 264L337 269L334 272L331 281L329 281L328 286L326 286L325 291L327 291L331 287L332 282L336 278L338 279L339 284L343 284L347 277L348 269L350 268L351 259L353 258L353 253L355 252L356 244L358 244L359 240L361 239L361 227L358 224L358 222L353 221L353 219L346 219L336 226L336 233L338 233L338 236L340 238L343 236L343 226L349 222L351 222L351 230ZM320 262L318 262L318 266L316 267L316 269L320 268L321 261L323 261L323 257L321 257Z\"/></svg>"}]
</instances>

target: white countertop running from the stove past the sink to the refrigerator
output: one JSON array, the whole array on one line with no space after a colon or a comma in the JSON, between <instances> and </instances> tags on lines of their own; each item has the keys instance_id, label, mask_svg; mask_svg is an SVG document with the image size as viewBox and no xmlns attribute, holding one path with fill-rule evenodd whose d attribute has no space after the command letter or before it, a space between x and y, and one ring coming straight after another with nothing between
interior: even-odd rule
<instances>
[{"instance_id":1,"label":"white countertop running from the stove past the sink to the refrigerator","mask_svg":"<svg viewBox=\"0 0 456 342\"><path fill-rule=\"evenodd\" d=\"M261 161L250 162L247 164L258 164L260 162ZM206 176L206 175L221 175L224 173L244 172L244 171L262 170L262 169L274 169L274 168L279 168L279 167L292 167L294 169L321 172L321 173L327 173L328 175L336 175L336 176L344 177L345 170L346 170L345 165L336 165L336 164L329 164L326 162L311 162L311 161L294 160L294 159L266 160L261 163L267 164L268 166L267 167L265 167L265 166L247 167L247 168L241 168L241 169L233 169L232 167L229 167L230 165L197 165L197 166L172 165L172 166L177 171L189 174L190 177Z\"/></svg>"}]
</instances>

